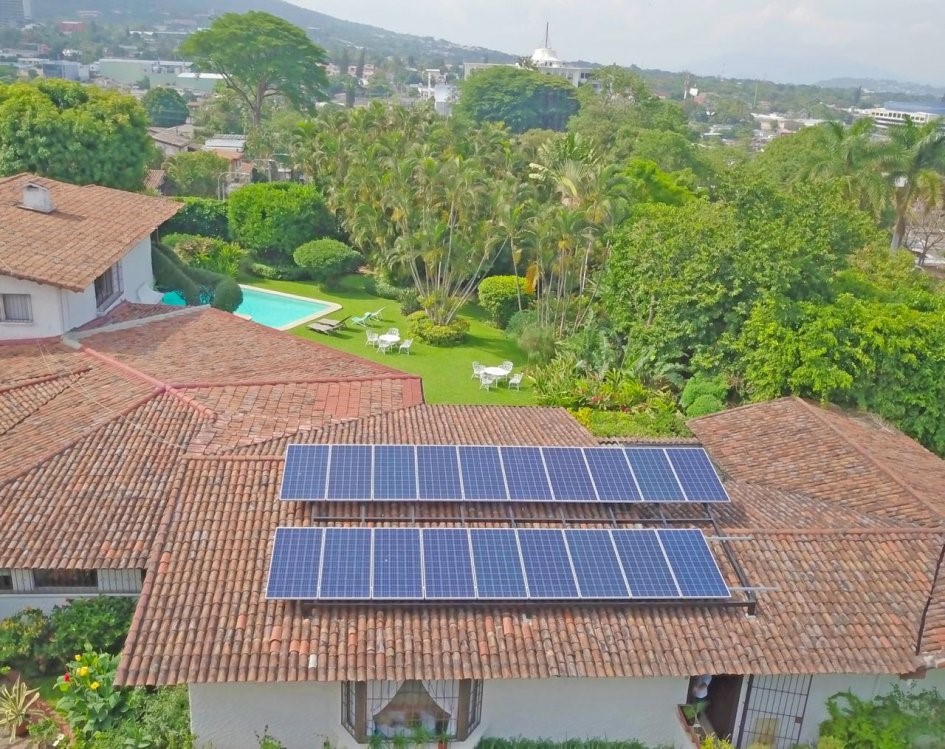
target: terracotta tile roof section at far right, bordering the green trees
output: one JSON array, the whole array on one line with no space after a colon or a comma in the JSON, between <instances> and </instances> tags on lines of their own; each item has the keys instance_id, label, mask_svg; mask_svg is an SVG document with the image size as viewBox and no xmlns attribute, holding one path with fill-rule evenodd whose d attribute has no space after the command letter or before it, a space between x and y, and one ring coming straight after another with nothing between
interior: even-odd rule
<instances>
[{"instance_id":1,"label":"terracotta tile roof section at far right, bordering the green trees","mask_svg":"<svg viewBox=\"0 0 945 749\"><path fill-rule=\"evenodd\" d=\"M945 462L877 421L799 398L689 422L732 477L843 503L878 518L939 524Z\"/></svg>"}]
</instances>

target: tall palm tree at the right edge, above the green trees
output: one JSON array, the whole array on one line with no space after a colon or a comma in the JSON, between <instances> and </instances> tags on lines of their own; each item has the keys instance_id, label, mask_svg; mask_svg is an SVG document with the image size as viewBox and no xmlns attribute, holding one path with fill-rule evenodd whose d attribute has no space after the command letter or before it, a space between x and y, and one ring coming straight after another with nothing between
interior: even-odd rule
<instances>
[{"instance_id":1,"label":"tall palm tree at the right edge, above the green trees","mask_svg":"<svg viewBox=\"0 0 945 749\"><path fill-rule=\"evenodd\" d=\"M912 204L938 202L945 177L945 132L938 120L916 125L907 119L890 128L889 141L879 155L879 165L892 187L895 223L891 249L902 245Z\"/></svg>"}]
</instances>

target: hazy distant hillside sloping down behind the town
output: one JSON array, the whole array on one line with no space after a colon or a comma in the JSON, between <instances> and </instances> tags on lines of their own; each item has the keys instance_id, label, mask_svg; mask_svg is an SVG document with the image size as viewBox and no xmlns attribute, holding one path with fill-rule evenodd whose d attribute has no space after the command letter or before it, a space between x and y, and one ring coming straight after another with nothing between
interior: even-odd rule
<instances>
[{"instance_id":1,"label":"hazy distant hillside sloping down behind the town","mask_svg":"<svg viewBox=\"0 0 945 749\"><path fill-rule=\"evenodd\" d=\"M262 10L300 26L329 52L346 47L364 47L372 57L396 55L413 57L420 65L442 60L447 64L462 62L514 62L515 55L485 47L454 44L429 36L398 34L376 26L342 21L333 16L300 8L282 0L33 0L37 21L76 17L80 10L98 11L101 21L137 26L163 24L175 18L190 18L206 24L214 16L227 12L245 13Z\"/></svg>"}]
</instances>

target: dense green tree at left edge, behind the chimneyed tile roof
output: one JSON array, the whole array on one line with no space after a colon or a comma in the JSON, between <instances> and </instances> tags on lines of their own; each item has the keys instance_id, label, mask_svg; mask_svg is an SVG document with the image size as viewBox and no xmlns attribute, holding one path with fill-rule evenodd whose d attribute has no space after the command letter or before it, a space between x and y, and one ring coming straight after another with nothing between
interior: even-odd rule
<instances>
[{"instance_id":1,"label":"dense green tree at left edge, behind the chimneyed tile roof","mask_svg":"<svg viewBox=\"0 0 945 749\"><path fill-rule=\"evenodd\" d=\"M0 175L138 190L152 152L131 96L59 79L0 84Z\"/></svg>"}]
</instances>

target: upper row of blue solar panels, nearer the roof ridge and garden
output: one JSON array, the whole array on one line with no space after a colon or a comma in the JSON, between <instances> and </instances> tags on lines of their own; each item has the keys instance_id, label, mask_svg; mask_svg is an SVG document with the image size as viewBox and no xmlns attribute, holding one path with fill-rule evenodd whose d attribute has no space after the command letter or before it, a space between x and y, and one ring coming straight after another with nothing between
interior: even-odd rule
<instances>
[{"instance_id":1,"label":"upper row of blue solar panels, nearer the roof ridge and garden","mask_svg":"<svg viewBox=\"0 0 945 749\"><path fill-rule=\"evenodd\" d=\"M281 497L308 501L726 502L699 447L290 445Z\"/></svg>"}]
</instances>

